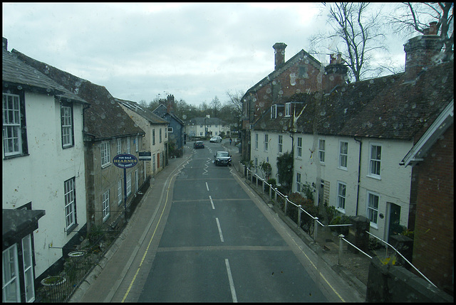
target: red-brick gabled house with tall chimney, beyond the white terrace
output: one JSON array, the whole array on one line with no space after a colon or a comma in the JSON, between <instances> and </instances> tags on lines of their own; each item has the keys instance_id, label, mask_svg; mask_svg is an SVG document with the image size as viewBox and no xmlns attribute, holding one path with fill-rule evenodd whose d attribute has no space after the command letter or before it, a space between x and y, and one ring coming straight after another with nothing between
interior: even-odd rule
<instances>
[{"instance_id":1,"label":"red-brick gabled house with tall chimney, beyond the white terrace","mask_svg":"<svg viewBox=\"0 0 456 305\"><path fill-rule=\"evenodd\" d=\"M251 160L252 124L272 105L284 105L292 95L318 90L331 90L346 82L346 66L341 55L331 56L331 68L322 70L321 63L305 50L285 61L285 43L275 43L274 71L251 87L242 97L242 159ZM283 108L282 108L283 109ZM284 110L284 109L283 109ZM284 113L277 112L283 116Z\"/></svg>"}]
</instances>

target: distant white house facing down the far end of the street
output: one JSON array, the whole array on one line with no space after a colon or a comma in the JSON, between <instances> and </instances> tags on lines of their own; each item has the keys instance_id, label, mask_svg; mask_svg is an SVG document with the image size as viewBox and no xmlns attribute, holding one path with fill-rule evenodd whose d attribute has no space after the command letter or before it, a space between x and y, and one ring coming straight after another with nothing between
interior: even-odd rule
<instances>
[{"instance_id":1,"label":"distant white house facing down the far end of the street","mask_svg":"<svg viewBox=\"0 0 456 305\"><path fill-rule=\"evenodd\" d=\"M217 117L195 117L185 122L185 132L189 139L203 139L224 135L229 137L230 127Z\"/></svg>"}]
</instances>

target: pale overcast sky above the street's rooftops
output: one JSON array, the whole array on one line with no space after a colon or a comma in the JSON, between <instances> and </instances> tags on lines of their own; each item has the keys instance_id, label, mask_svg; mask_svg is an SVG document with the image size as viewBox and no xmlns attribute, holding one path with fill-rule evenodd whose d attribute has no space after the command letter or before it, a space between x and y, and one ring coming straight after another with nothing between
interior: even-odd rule
<instances>
[{"instance_id":1,"label":"pale overcast sky above the street's rooftops","mask_svg":"<svg viewBox=\"0 0 456 305\"><path fill-rule=\"evenodd\" d=\"M244 93L285 60L309 50L326 26L319 3L3 3L8 50L105 86L114 97L150 102L167 94L188 104ZM403 44L391 55L405 63ZM314 55L321 63L328 55Z\"/></svg>"}]
</instances>

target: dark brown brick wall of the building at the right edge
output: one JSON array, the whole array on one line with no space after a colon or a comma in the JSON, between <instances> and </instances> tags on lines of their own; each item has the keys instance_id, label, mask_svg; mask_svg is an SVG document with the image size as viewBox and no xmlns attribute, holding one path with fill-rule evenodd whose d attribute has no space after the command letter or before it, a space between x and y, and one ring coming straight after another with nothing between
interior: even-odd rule
<instances>
[{"instance_id":1,"label":"dark brown brick wall of the building at the right edge","mask_svg":"<svg viewBox=\"0 0 456 305\"><path fill-rule=\"evenodd\" d=\"M413 264L437 287L453 291L454 127L427 153L418 176Z\"/></svg>"}]
</instances>

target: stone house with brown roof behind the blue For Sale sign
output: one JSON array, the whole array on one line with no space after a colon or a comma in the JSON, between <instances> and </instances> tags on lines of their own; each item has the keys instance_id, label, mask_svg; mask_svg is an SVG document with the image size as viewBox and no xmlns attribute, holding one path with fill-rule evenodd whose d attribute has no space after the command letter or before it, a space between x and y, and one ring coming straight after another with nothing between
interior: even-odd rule
<instances>
[{"instance_id":1,"label":"stone house with brown roof behind the blue For Sale sign","mask_svg":"<svg viewBox=\"0 0 456 305\"><path fill-rule=\"evenodd\" d=\"M77 189L85 191L86 199L81 201L87 204L79 210L87 211L88 231L93 227L106 229L125 221L125 208L130 207L136 193L145 183L144 167L138 162L136 166L128 168L124 181L123 169L113 164L113 158L125 153L138 158L139 151L143 149L142 137L145 132L115 102L105 87L41 63L16 50L12 50L12 53L90 103L84 108L83 115L78 116L83 119L81 126L84 143L78 152L84 154L85 166L83 163L78 164L77 176L85 175L86 183ZM124 199L125 185L127 203ZM68 248L64 248L64 255L68 251Z\"/></svg>"}]
</instances>

